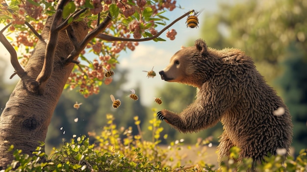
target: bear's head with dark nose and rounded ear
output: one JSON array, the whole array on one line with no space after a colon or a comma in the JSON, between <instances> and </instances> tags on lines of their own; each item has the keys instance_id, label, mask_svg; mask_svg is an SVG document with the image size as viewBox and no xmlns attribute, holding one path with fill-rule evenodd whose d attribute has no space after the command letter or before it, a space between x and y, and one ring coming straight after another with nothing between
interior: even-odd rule
<instances>
[{"instance_id":1,"label":"bear's head with dark nose and rounded ear","mask_svg":"<svg viewBox=\"0 0 307 172\"><path fill-rule=\"evenodd\" d=\"M212 64L204 40L195 41L194 47L186 47L177 51L171 58L170 64L160 71L161 79L168 82L179 82L194 87L200 87L212 72Z\"/></svg>"}]
</instances>

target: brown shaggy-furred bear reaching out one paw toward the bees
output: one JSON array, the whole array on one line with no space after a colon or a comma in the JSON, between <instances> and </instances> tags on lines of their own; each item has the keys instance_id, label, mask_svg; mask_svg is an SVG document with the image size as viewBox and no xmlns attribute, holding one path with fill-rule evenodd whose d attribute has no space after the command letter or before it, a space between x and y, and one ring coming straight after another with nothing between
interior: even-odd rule
<instances>
[{"instance_id":1,"label":"brown shaggy-furred bear reaching out one paw toward the bees","mask_svg":"<svg viewBox=\"0 0 307 172\"><path fill-rule=\"evenodd\" d=\"M262 160L278 148L288 155L293 135L289 110L241 50L207 48L199 39L194 47L176 52L159 74L165 81L197 87L197 98L180 114L163 109L158 118L183 133L221 121L219 162L233 146L241 149L239 161Z\"/></svg>"}]
</instances>

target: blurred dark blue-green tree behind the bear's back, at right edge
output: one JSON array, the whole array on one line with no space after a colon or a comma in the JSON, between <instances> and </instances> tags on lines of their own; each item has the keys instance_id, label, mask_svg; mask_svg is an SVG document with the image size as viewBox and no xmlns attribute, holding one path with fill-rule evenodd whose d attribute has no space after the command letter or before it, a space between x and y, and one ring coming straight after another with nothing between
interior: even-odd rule
<instances>
[{"instance_id":1,"label":"blurred dark blue-green tree behind the bear's back, at right edge","mask_svg":"<svg viewBox=\"0 0 307 172\"><path fill-rule=\"evenodd\" d=\"M285 54L286 60L281 61L284 72L277 78L276 85L292 115L293 144L296 153L307 145L307 60L304 50L292 43Z\"/></svg>"}]
</instances>

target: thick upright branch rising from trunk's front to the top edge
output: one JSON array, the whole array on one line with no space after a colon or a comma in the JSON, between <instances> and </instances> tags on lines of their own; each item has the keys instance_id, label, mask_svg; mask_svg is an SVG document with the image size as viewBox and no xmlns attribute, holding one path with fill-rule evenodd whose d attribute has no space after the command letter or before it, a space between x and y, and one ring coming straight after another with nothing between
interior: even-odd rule
<instances>
[{"instance_id":1,"label":"thick upright branch rising from trunk's front to the top edge","mask_svg":"<svg viewBox=\"0 0 307 172\"><path fill-rule=\"evenodd\" d=\"M44 65L41 73L37 76L36 81L38 82L38 93L43 94L48 79L51 77L53 70L53 58L55 53L55 48L58 40L59 29L57 26L62 21L63 7L69 0L61 0L56 8L56 12L51 24L51 29L49 33L49 38L47 42Z\"/></svg>"}]
</instances>

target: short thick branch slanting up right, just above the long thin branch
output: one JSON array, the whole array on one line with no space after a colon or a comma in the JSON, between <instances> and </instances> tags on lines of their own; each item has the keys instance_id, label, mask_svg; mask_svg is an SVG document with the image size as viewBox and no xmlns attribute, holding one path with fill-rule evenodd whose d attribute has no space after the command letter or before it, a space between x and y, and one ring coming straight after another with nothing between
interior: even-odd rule
<instances>
[{"instance_id":1,"label":"short thick branch slanting up right, just above the long thin branch","mask_svg":"<svg viewBox=\"0 0 307 172\"><path fill-rule=\"evenodd\" d=\"M74 62L75 57L77 57L80 52L85 49L86 45L94 39L100 32L102 32L107 25L112 21L112 17L110 15L110 12L102 22L102 24L98 25L94 30L92 30L89 34L86 35L86 37L82 40L82 42L77 46L77 49L75 48L67 57L67 59L64 61L66 65L69 65L70 63Z\"/></svg>"}]
</instances>

